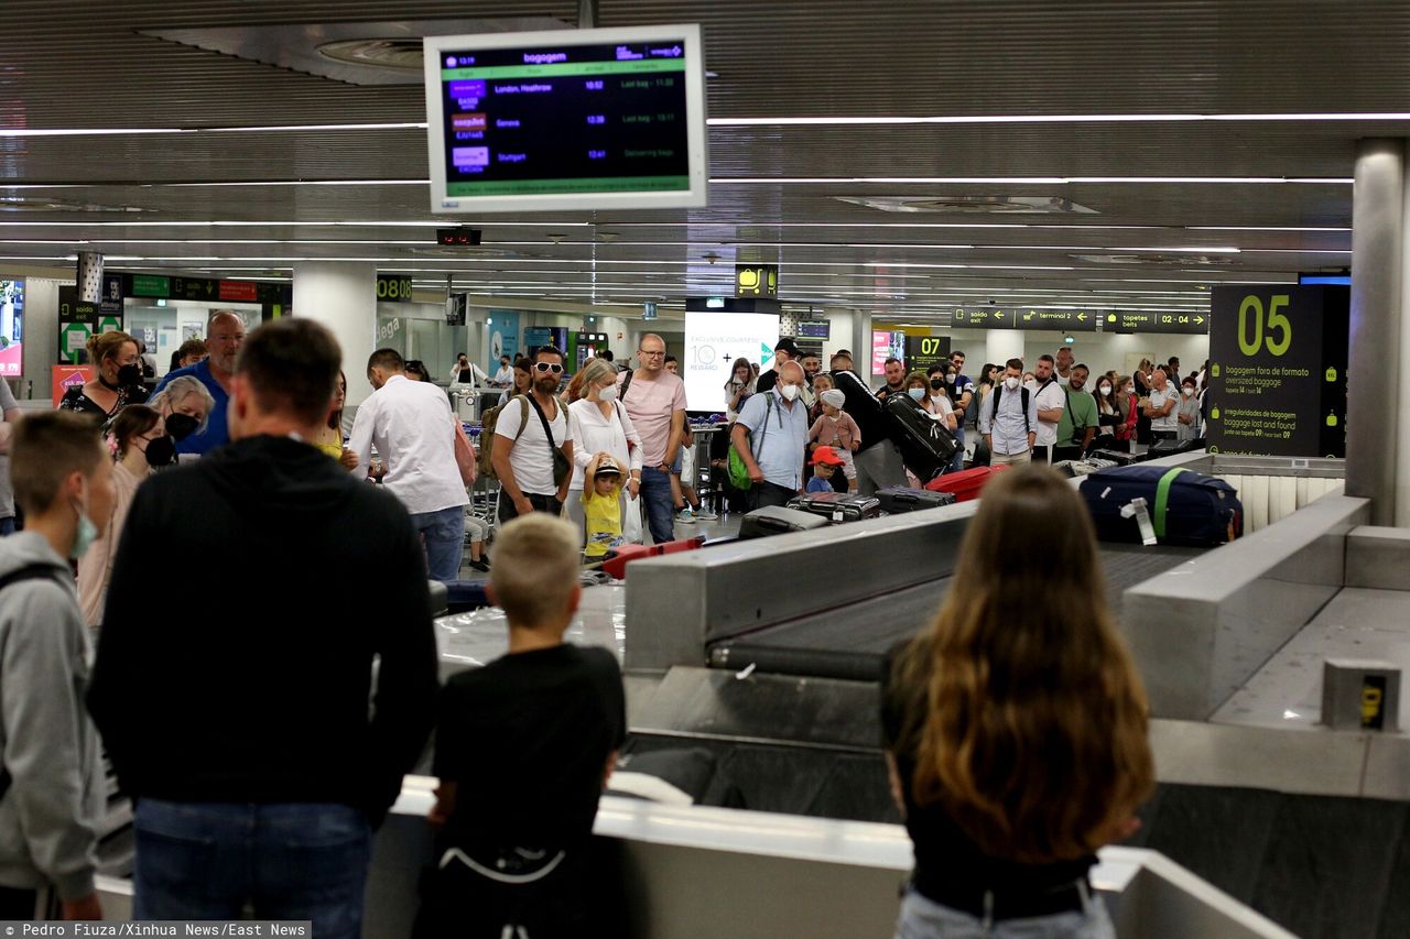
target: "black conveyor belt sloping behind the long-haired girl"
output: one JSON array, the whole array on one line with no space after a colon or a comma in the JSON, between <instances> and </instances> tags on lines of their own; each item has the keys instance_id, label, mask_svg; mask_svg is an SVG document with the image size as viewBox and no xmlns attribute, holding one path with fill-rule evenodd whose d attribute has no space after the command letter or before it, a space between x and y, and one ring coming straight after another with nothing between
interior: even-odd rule
<instances>
[{"instance_id":1,"label":"black conveyor belt sloping behind the long-haired girl","mask_svg":"<svg viewBox=\"0 0 1410 939\"><path fill-rule=\"evenodd\" d=\"M1121 594L1160 574L1204 548L1141 544L1101 544L1107 592L1115 603ZM942 578L883 596L778 626L713 643L709 663L716 668L819 678L876 681L885 651L915 634L940 608L953 578Z\"/></svg>"}]
</instances>

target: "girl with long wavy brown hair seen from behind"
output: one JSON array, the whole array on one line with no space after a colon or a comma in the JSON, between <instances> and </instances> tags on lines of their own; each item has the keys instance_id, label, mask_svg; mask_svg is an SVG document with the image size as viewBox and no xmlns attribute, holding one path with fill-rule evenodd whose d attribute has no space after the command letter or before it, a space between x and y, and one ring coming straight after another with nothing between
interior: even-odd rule
<instances>
[{"instance_id":1,"label":"girl with long wavy brown hair seen from behind","mask_svg":"<svg viewBox=\"0 0 1410 939\"><path fill-rule=\"evenodd\" d=\"M1021 919L1024 936L1114 936L1087 870L1135 830L1155 778L1077 493L1045 467L1003 474L953 582L883 675L891 790L915 845L897 935L1004 936Z\"/></svg>"}]
</instances>

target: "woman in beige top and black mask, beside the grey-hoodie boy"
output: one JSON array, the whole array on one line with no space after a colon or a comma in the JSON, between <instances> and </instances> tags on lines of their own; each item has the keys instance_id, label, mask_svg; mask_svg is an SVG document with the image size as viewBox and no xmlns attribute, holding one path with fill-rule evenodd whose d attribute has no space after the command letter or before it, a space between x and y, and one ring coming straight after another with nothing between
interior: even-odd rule
<instances>
[{"instance_id":1,"label":"woman in beige top and black mask, beside the grey-hoodie boy","mask_svg":"<svg viewBox=\"0 0 1410 939\"><path fill-rule=\"evenodd\" d=\"M103 534L79 558L79 606L83 608L83 622L89 626L97 626L102 620L107 578L113 571L123 523L127 522L127 509L133 505L137 486L152 474L154 467L165 465L176 457L171 437L162 427L162 416L147 405L124 407L113 419L106 440L117 460L113 467L113 508Z\"/></svg>"}]
</instances>

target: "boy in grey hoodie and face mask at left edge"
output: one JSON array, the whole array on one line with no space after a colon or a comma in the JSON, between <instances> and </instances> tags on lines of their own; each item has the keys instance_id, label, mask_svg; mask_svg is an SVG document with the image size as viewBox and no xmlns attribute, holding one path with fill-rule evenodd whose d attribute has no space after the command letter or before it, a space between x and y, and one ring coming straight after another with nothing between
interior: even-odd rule
<instances>
[{"instance_id":1,"label":"boy in grey hoodie and face mask at left edge","mask_svg":"<svg viewBox=\"0 0 1410 939\"><path fill-rule=\"evenodd\" d=\"M65 919L102 919L106 788L83 709L93 650L65 558L107 524L111 474L89 417L16 424L10 475L25 530L0 540L0 919L32 919L48 890Z\"/></svg>"}]
</instances>

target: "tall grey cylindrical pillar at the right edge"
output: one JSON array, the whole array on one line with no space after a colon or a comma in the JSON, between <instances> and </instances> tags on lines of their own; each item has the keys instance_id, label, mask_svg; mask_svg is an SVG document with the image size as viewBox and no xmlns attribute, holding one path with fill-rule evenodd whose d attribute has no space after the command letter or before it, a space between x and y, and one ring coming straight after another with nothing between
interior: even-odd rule
<instances>
[{"instance_id":1,"label":"tall grey cylindrical pillar at the right edge","mask_svg":"<svg viewBox=\"0 0 1410 939\"><path fill-rule=\"evenodd\" d=\"M1410 524L1410 444L1400 406L1400 329L1406 309L1406 147L1363 140L1352 196L1351 355L1347 402L1347 495L1372 501L1373 524Z\"/></svg>"}]
</instances>

